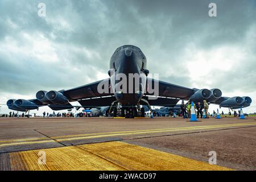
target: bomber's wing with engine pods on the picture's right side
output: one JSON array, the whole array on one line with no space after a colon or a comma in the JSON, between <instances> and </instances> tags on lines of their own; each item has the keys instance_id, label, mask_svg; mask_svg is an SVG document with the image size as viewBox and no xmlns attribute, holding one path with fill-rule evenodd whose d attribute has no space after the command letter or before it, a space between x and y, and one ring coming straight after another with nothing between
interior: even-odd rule
<instances>
[{"instance_id":1,"label":"bomber's wing with engine pods on the picture's right side","mask_svg":"<svg viewBox=\"0 0 256 182\"><path fill-rule=\"evenodd\" d=\"M155 90L154 85L159 85L159 89L158 92L152 93L152 90ZM148 87L153 89L150 91ZM220 105L220 107L230 107L233 109L247 107L251 104L250 97L221 96L222 92L220 89L190 89L153 78L147 78L147 92L144 97L146 97L145 99L148 100L151 105L169 107L175 106L179 100L189 100L193 102L206 100L210 104L217 104ZM157 97L157 99L152 100L154 97Z\"/></svg>"}]
</instances>

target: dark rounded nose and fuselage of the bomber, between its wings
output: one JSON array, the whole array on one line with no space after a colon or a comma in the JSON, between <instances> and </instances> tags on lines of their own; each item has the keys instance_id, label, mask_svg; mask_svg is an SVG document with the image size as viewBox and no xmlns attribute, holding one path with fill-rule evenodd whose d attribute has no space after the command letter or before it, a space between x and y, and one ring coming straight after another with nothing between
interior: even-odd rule
<instances>
[{"instance_id":1,"label":"dark rounded nose and fuselage of the bomber, between its wings","mask_svg":"<svg viewBox=\"0 0 256 182\"><path fill-rule=\"evenodd\" d=\"M115 98L122 106L135 106L141 101L146 65L146 57L138 47L122 46L113 53L109 75Z\"/></svg>"}]
</instances>

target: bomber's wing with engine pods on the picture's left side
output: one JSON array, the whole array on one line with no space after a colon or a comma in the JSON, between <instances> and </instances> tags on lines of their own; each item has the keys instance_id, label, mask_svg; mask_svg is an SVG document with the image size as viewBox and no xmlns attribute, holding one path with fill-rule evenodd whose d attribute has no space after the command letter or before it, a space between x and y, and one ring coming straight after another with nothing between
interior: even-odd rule
<instances>
[{"instance_id":1,"label":"bomber's wing with engine pods on the picture's left side","mask_svg":"<svg viewBox=\"0 0 256 182\"><path fill-rule=\"evenodd\" d=\"M98 84L108 85L109 92L99 93ZM52 110L72 109L69 102L78 101L82 106L109 106L114 101L113 93L110 92L110 78L82 85L73 89L50 91L40 90L36 93L36 99L32 100L9 100L9 109L26 111L38 109L40 106L49 106ZM46 96L51 100L47 100Z\"/></svg>"}]
</instances>

